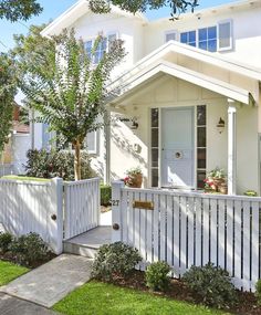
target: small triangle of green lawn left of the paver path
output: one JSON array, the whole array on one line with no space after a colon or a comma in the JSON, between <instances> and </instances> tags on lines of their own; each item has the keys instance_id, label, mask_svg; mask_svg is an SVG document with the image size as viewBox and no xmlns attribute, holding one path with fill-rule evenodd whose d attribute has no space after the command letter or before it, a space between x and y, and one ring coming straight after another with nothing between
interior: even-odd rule
<instances>
[{"instance_id":1,"label":"small triangle of green lawn left of the paver path","mask_svg":"<svg viewBox=\"0 0 261 315\"><path fill-rule=\"evenodd\" d=\"M29 269L9 262L0 261L0 286L27 273Z\"/></svg>"}]
</instances>

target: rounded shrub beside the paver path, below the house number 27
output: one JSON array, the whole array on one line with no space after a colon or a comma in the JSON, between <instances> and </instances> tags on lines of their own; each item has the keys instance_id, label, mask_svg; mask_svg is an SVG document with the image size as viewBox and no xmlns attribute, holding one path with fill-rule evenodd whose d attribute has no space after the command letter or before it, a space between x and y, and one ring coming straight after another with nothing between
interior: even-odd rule
<instances>
[{"instance_id":1,"label":"rounded shrub beside the paver path, below the house number 27","mask_svg":"<svg viewBox=\"0 0 261 315\"><path fill-rule=\"evenodd\" d=\"M127 277L142 261L137 249L122 242L102 245L93 263L92 276L112 281L114 276Z\"/></svg>"}]
</instances>

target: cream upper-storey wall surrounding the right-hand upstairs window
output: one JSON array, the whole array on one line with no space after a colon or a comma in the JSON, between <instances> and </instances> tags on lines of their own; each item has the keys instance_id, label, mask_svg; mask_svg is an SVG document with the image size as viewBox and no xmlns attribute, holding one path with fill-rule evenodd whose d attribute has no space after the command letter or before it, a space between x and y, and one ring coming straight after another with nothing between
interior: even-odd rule
<instances>
[{"instance_id":1,"label":"cream upper-storey wall surrounding the right-hand upstairs window","mask_svg":"<svg viewBox=\"0 0 261 315\"><path fill-rule=\"evenodd\" d=\"M233 3L231 3L231 7L233 9L227 9L223 12L220 12L218 9L216 11L206 11L206 13L202 11L200 19L198 19L197 12L195 12L194 14L186 14L184 18L181 15L175 22L169 21L167 18L148 23L144 28L144 56L165 43L166 31L192 31L217 25L218 22L223 20L231 20L233 48L228 51L218 52L218 54L261 67L261 2L254 7L247 4L242 8L234 8Z\"/></svg>"}]
</instances>

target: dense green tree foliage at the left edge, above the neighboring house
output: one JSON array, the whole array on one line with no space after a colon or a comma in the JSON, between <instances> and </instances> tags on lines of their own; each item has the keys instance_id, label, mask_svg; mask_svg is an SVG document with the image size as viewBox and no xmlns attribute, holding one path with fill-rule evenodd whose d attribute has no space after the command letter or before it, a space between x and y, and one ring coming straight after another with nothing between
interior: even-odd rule
<instances>
[{"instance_id":1,"label":"dense green tree foliage at the left edge, above the neighboring house","mask_svg":"<svg viewBox=\"0 0 261 315\"><path fill-rule=\"evenodd\" d=\"M0 154L12 127L13 98L17 92L12 61L0 54Z\"/></svg>"}]
</instances>

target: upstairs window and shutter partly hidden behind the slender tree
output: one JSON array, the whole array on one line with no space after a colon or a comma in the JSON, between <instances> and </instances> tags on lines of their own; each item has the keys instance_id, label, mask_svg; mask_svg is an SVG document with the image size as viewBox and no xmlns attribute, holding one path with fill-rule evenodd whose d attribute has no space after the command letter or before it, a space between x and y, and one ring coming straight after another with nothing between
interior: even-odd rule
<instances>
[{"instance_id":1,"label":"upstairs window and shutter partly hidden behind the slender tree","mask_svg":"<svg viewBox=\"0 0 261 315\"><path fill-rule=\"evenodd\" d=\"M93 55L93 63L94 64L97 64L102 60L104 53L111 49L112 42L115 41L116 39L117 39L117 34L111 33L111 34L107 34L107 36L104 38L98 43L98 45L94 52L94 55ZM85 42L85 50L86 50L88 56L91 56L91 54L92 54L92 50L93 50L95 40L96 39L92 39L92 40L88 40Z\"/></svg>"}]
</instances>

